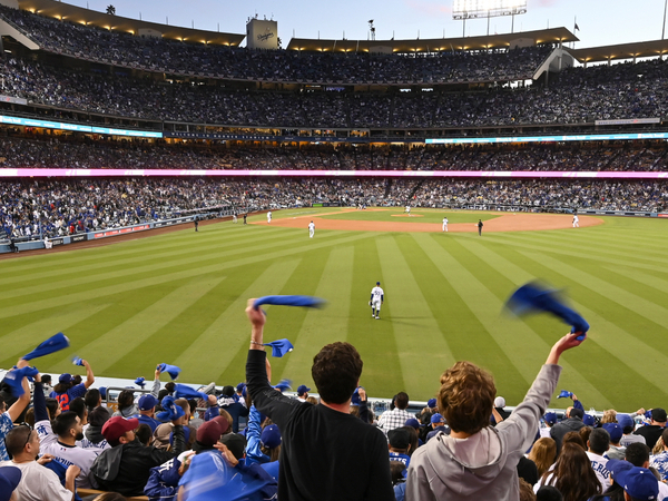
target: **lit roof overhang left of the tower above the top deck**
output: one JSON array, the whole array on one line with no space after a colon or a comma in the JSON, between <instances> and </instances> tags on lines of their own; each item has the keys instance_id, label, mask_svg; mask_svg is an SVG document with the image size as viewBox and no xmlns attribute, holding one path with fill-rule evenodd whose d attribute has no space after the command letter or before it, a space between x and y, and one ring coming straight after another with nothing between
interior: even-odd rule
<instances>
[{"instance_id":1,"label":"lit roof overhang left of the tower above the top deck","mask_svg":"<svg viewBox=\"0 0 668 501\"><path fill-rule=\"evenodd\" d=\"M40 16L56 18L80 24L95 26L106 30L138 35L140 30L161 33L163 38L193 43L212 43L218 46L238 46L245 35L220 33L217 31L196 30L158 22L110 16L105 12L84 9L55 0L18 0L19 8Z\"/></svg>"}]
</instances>

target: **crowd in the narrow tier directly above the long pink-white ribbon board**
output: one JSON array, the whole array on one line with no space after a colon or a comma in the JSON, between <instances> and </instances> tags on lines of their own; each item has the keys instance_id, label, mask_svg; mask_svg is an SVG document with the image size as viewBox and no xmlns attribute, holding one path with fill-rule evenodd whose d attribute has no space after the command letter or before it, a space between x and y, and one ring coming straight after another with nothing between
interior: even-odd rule
<instances>
[{"instance_id":1,"label":"crowd in the narrow tier directly above the long pink-white ribbon board","mask_svg":"<svg viewBox=\"0 0 668 501\"><path fill-rule=\"evenodd\" d=\"M6 137L0 168L179 170L567 170L666 171L662 141L529 145L321 144L291 146L146 140L92 140L67 136Z\"/></svg>"}]
</instances>

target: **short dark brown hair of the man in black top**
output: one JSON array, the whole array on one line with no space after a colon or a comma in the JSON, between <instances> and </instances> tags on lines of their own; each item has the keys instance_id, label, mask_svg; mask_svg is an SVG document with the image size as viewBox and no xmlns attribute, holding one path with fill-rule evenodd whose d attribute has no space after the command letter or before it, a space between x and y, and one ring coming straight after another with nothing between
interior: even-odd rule
<instances>
[{"instance_id":1,"label":"short dark brown hair of the man in black top","mask_svg":"<svg viewBox=\"0 0 668 501\"><path fill-rule=\"evenodd\" d=\"M323 346L313 357L311 375L323 402L347 402L362 375L362 357L355 346L336 342Z\"/></svg>"}]
</instances>

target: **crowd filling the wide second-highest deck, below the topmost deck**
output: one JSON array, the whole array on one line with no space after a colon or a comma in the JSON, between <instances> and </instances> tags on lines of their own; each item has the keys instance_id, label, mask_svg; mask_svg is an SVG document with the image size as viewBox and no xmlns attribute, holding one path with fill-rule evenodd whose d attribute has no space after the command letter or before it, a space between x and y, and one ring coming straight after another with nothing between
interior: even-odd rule
<instances>
[{"instance_id":1,"label":"crowd filling the wide second-highest deck, below the topmost deck","mask_svg":"<svg viewBox=\"0 0 668 501\"><path fill-rule=\"evenodd\" d=\"M410 92L240 90L73 71L11 57L2 94L29 102L147 120L254 127L443 128L582 124L668 114L668 61L570 68L550 86Z\"/></svg>"}]
</instances>

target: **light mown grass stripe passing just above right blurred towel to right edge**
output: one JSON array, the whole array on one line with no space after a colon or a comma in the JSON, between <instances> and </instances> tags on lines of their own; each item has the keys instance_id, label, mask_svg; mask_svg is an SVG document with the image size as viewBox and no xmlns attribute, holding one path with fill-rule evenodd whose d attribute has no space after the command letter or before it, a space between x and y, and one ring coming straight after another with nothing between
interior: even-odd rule
<instances>
[{"instance_id":1,"label":"light mown grass stripe passing just above right blurred towel to right edge","mask_svg":"<svg viewBox=\"0 0 668 501\"><path fill-rule=\"evenodd\" d=\"M582 286L606 296L611 302L617 303L625 308L632 310L638 315L642 315L659 327L665 328L666 321L668 320L668 310L666 310L664 306L645 299L611 282L605 281L591 273L571 266L568 263L557 259L550 255L531 252L522 252L521 254L532 261L541 263L543 266L558 272L560 275L568 277L570 281L579 283Z\"/></svg>"}]
</instances>

